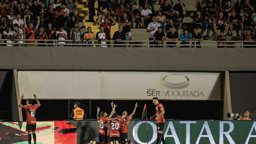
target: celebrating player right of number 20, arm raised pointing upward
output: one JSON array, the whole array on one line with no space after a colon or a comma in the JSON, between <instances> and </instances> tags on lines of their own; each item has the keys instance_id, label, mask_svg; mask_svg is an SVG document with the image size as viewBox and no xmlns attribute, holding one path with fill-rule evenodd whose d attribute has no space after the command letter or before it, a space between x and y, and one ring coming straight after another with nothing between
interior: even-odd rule
<instances>
[{"instance_id":1,"label":"celebrating player right of number 20, arm raised pointing upward","mask_svg":"<svg viewBox=\"0 0 256 144\"><path fill-rule=\"evenodd\" d=\"M112 104L113 104L113 102L112 102ZM121 143L122 144L128 144L128 124L130 122L129 117L133 116L135 114L137 106L138 106L138 104L136 102L136 104L134 106L134 110L133 110L132 114L130 114L130 115L128 115L127 111L124 111L122 113L122 116L118 115L118 118L120 120L124 121L124 123L121 124L121 128L120 128L120 137L121 137ZM112 105L112 107L113 107L113 105ZM114 111L114 113L115 112L116 111Z\"/></svg>"}]
</instances>

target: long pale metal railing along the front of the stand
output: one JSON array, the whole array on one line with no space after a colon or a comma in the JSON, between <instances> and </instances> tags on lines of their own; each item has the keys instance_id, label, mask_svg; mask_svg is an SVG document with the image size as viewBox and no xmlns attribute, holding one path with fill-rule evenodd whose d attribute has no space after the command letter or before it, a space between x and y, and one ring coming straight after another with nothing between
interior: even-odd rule
<instances>
[{"instance_id":1,"label":"long pale metal railing along the front of the stand","mask_svg":"<svg viewBox=\"0 0 256 144\"><path fill-rule=\"evenodd\" d=\"M203 43L209 43L209 42L214 42L216 44L196 44L196 42L198 41L188 41L186 43L192 43L195 42L195 44L166 44L167 41L164 42L164 44L151 44L151 42L154 41L149 41L149 40L124 40L124 41L120 41L120 42L124 42L124 44L102 44L102 42L114 42L114 40L104 40L104 41L98 41L98 40L76 40L75 42L81 42L80 44L75 44L72 43L73 40L20 40L20 39L15 39L14 41L12 41L12 43L9 43L8 41L11 41L9 39L0 39L0 41L4 41L4 42L0 42L0 45L45 45L45 46L191 46L191 48L196 48L196 46L240 46L240 47L244 47L244 46L256 46L256 44L244 44L243 41L223 41L225 44L223 45L218 45L217 41L202 41ZM44 41L46 43L17 43L17 41L35 41L35 42L40 42L40 41ZM58 42L65 42L65 44L60 44ZM85 44L85 42L99 42L99 44ZM140 43L146 43L146 44L132 44L133 42L140 42ZM171 41L171 42L182 42L182 41ZM201 42L201 43L202 43ZM125 44L125 43L130 43L130 44ZM240 44L228 44L228 43L240 43ZM247 41L246 43L254 43L254 41Z\"/></svg>"}]
</instances>

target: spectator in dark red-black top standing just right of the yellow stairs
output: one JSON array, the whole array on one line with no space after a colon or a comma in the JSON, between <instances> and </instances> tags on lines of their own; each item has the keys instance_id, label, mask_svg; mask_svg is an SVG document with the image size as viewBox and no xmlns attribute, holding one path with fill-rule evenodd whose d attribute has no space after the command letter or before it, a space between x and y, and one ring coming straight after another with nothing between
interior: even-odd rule
<instances>
[{"instance_id":1,"label":"spectator in dark red-black top standing just right of the yellow stairs","mask_svg":"<svg viewBox=\"0 0 256 144\"><path fill-rule=\"evenodd\" d=\"M126 34L126 38L128 40L132 40L132 32L131 32L131 20L128 18L128 13L124 12L124 18L121 21L123 26L123 32Z\"/></svg>"}]
</instances>

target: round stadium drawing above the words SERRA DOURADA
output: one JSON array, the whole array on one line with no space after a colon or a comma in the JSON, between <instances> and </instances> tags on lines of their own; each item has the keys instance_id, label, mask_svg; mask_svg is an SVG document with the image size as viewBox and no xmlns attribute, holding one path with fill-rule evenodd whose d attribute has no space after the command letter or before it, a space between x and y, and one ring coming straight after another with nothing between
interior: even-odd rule
<instances>
[{"instance_id":1,"label":"round stadium drawing above the words SERRA DOURADA","mask_svg":"<svg viewBox=\"0 0 256 144\"><path fill-rule=\"evenodd\" d=\"M170 74L165 76L162 80L164 87L169 89L182 89L189 85L189 78L182 74Z\"/></svg>"}]
</instances>

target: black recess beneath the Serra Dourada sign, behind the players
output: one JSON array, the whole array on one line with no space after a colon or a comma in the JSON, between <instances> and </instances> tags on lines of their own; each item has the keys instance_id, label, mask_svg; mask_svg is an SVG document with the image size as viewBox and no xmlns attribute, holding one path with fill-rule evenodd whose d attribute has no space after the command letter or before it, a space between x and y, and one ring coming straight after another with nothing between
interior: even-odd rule
<instances>
[{"instance_id":1,"label":"black recess beneath the Serra Dourada sign, behind the players","mask_svg":"<svg viewBox=\"0 0 256 144\"><path fill-rule=\"evenodd\" d=\"M80 108L84 109L89 118L90 115L90 100L77 100L81 103ZM106 111L108 115L112 111L112 100L91 100L91 119L96 119L97 107L100 107L100 111ZM26 104L26 100L22 101L22 104ZM36 101L34 101L36 102ZM70 112L74 109L74 102L76 100L70 100ZM122 112L126 110L128 114L131 114L134 110L134 105L138 102L138 108L133 118L141 118L144 104L147 104L148 118L156 114L155 105L152 100L114 100L116 105L116 112L122 115ZM165 108L166 113L164 117L166 119L175 120L222 120L223 101L200 101L200 100L161 100L160 101ZM42 120L67 120L70 116L68 113L68 100L40 100L42 106L36 111L36 118L38 121ZM23 120L26 121L26 113L22 110Z\"/></svg>"}]
</instances>

